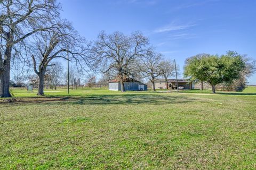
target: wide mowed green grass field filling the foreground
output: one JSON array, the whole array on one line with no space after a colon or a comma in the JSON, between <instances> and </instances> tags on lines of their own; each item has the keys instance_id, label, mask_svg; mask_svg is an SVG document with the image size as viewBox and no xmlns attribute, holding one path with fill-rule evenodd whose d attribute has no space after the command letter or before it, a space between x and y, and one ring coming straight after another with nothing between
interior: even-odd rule
<instances>
[{"instance_id":1,"label":"wide mowed green grass field filling the foreground","mask_svg":"<svg viewBox=\"0 0 256 170\"><path fill-rule=\"evenodd\" d=\"M0 169L256 168L256 87L11 92L0 99Z\"/></svg>"}]
</instances>

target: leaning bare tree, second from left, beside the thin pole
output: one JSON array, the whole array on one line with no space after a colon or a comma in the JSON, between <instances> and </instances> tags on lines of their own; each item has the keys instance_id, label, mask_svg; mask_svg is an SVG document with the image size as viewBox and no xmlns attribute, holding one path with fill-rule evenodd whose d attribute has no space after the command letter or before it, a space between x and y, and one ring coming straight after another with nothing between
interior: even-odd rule
<instances>
[{"instance_id":1,"label":"leaning bare tree, second from left, beside the thin pole","mask_svg":"<svg viewBox=\"0 0 256 170\"><path fill-rule=\"evenodd\" d=\"M35 73L39 77L37 95L44 95L44 75L46 68L52 66L51 61L55 58L68 60L67 53L71 55L70 60L75 60L80 66L85 61L86 48L83 46L85 40L79 37L71 25L66 22L59 24L54 31L40 32L34 36L35 48L30 48L31 58ZM32 50L31 50L32 49Z\"/></svg>"}]
</instances>

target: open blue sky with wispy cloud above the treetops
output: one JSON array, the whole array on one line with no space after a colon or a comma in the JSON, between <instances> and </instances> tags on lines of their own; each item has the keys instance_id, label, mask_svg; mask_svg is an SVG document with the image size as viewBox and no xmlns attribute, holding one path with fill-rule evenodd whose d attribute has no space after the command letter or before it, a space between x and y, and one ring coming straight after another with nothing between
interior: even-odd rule
<instances>
[{"instance_id":1,"label":"open blue sky with wispy cloud above the treetops","mask_svg":"<svg viewBox=\"0 0 256 170\"><path fill-rule=\"evenodd\" d=\"M87 40L101 30L140 30L165 58L182 67L198 53L225 54L235 50L256 60L256 1L254 0L59 0L62 17ZM249 78L256 84L256 75Z\"/></svg>"}]
</instances>

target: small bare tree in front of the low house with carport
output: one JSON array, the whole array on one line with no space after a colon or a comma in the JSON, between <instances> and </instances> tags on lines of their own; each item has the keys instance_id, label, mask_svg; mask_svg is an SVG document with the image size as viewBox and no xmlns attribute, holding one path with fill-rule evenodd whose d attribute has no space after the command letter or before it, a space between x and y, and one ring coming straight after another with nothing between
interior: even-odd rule
<instances>
[{"instance_id":1,"label":"small bare tree in front of the low house with carport","mask_svg":"<svg viewBox=\"0 0 256 170\"><path fill-rule=\"evenodd\" d=\"M166 89L168 89L168 78L173 77L175 75L174 63L171 60L165 60L159 64L159 67L161 70L161 76L165 79Z\"/></svg>"}]
</instances>

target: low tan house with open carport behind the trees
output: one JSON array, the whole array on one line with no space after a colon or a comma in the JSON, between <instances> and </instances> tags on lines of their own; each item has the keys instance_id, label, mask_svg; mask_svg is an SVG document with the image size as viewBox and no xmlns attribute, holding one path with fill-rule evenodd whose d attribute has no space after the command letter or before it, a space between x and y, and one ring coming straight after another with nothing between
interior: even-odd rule
<instances>
[{"instance_id":1,"label":"low tan house with open carport behind the trees","mask_svg":"<svg viewBox=\"0 0 256 170\"><path fill-rule=\"evenodd\" d=\"M167 79L169 89L176 88L176 79ZM178 85L183 89L194 89L195 84L191 83L188 79L178 79ZM158 79L155 81L156 89L166 89L165 79Z\"/></svg>"}]
</instances>

